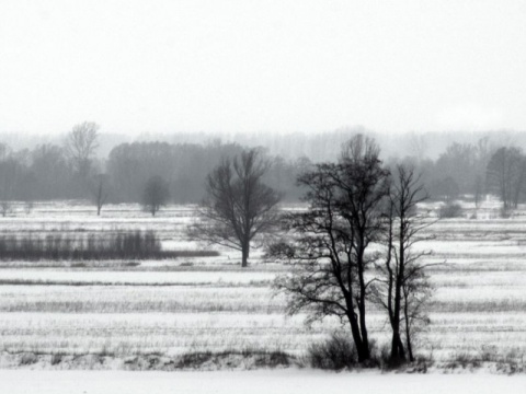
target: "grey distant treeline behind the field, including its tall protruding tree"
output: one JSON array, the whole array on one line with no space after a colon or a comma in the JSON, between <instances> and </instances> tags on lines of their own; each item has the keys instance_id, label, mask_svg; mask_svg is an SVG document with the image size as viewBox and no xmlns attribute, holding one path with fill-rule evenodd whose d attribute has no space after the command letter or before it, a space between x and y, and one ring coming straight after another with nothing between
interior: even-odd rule
<instances>
[{"instance_id":1,"label":"grey distant treeline behind the field, including its tall protruding tree","mask_svg":"<svg viewBox=\"0 0 526 394\"><path fill-rule=\"evenodd\" d=\"M44 143L33 150L13 151L0 143L0 201L5 205L11 200L91 199L100 212L108 201L145 202L145 188L157 179L168 189L163 202L197 202L205 196L206 177L215 165L245 149L219 140L125 142L101 158L100 140L99 126L83 123L75 126L60 144ZM480 202L484 194L492 193L502 198L505 208L526 199L526 160L518 147L499 146L484 137L477 142L451 142L432 160L425 157L425 147L413 144L407 150L412 154L385 161L413 164L432 198L447 201L470 195ZM298 200L302 192L296 178L316 158L286 160L267 149L260 151L270 162L265 182L282 190L285 200ZM145 205L149 210L152 207L151 201Z\"/></svg>"}]
</instances>

